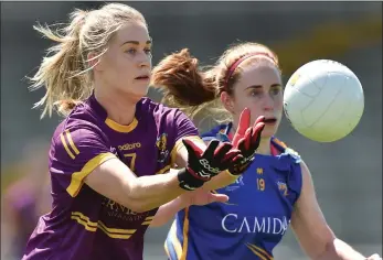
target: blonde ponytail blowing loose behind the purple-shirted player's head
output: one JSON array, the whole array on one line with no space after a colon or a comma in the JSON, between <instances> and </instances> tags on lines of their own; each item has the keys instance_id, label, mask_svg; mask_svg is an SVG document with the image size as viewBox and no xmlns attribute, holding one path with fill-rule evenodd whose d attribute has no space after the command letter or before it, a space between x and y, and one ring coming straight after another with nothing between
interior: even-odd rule
<instances>
[{"instance_id":1,"label":"blonde ponytail blowing loose behind the purple-shirted player's head","mask_svg":"<svg viewBox=\"0 0 383 260\"><path fill-rule=\"evenodd\" d=\"M47 50L38 73L30 78L33 83L31 90L42 86L46 88L44 97L34 105L34 108L44 107L41 118L46 113L51 117L55 107L61 115L67 115L92 93L88 76L83 73L85 67L79 43L86 15L87 12L75 10L71 13L71 24L58 32L53 32L47 25L33 26L43 36L57 43Z\"/></svg>"}]
</instances>

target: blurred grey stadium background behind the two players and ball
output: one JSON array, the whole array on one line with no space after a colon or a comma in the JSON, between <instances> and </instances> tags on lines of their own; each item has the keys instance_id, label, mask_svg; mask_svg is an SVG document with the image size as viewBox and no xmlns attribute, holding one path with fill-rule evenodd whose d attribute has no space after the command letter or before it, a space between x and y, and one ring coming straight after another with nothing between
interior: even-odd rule
<instances>
[{"instance_id":1,"label":"blurred grey stadium background behind the two players and ball","mask_svg":"<svg viewBox=\"0 0 383 260\"><path fill-rule=\"evenodd\" d=\"M47 149L60 119L40 120L26 75L50 42L32 30L66 22L74 8L102 2L1 2L1 259L20 259L40 215L50 210ZM365 110L357 129L334 143L316 143L288 122L278 137L309 165L329 225L364 254L382 254L382 2L126 2L143 13L153 37L153 64L189 47L202 65L227 45L259 42L279 56L285 83L300 65L339 61L360 78ZM160 100L160 94L149 96ZM352 106L352 105L350 105ZM205 124L199 124L201 131ZM169 226L150 229L145 259L166 259ZM12 258L12 256L15 256ZM307 259L291 231L275 259Z\"/></svg>"}]
</instances>

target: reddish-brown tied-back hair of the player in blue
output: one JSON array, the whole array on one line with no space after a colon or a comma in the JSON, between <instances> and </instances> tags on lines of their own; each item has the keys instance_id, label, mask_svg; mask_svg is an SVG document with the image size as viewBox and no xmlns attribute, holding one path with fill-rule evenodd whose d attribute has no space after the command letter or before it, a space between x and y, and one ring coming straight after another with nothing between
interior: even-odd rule
<instances>
[{"instance_id":1,"label":"reddish-brown tied-back hair of the player in blue","mask_svg":"<svg viewBox=\"0 0 383 260\"><path fill-rule=\"evenodd\" d=\"M180 108L189 117L194 117L203 108L225 111L217 98L223 91L233 95L241 66L264 61L279 68L277 55L265 45L241 43L227 48L214 66L203 69L189 50L183 48L166 56L153 67L151 84L163 91L164 104Z\"/></svg>"}]
</instances>

